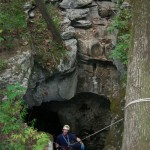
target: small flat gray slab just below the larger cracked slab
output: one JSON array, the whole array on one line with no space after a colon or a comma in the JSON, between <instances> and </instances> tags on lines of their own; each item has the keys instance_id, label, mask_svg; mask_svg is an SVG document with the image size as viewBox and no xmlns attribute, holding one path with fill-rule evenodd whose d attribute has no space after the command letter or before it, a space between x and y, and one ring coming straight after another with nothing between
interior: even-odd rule
<instances>
[{"instance_id":1,"label":"small flat gray slab just below the larger cracked slab","mask_svg":"<svg viewBox=\"0 0 150 150\"><path fill-rule=\"evenodd\" d=\"M92 23L89 20L78 20L74 22L72 26L87 29L87 28L91 28Z\"/></svg>"}]
</instances>

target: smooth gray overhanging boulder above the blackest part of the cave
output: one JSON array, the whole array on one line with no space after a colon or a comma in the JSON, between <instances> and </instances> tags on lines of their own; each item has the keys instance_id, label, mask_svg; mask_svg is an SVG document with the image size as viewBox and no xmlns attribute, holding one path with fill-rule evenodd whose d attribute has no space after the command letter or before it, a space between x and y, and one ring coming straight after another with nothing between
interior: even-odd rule
<instances>
[{"instance_id":1,"label":"smooth gray overhanging boulder above the blackest part of the cave","mask_svg":"<svg viewBox=\"0 0 150 150\"><path fill-rule=\"evenodd\" d=\"M30 79L32 80L30 80L29 85L33 86L33 74ZM25 95L25 101L30 107L32 107L39 106L43 102L70 99L76 93L76 86L77 73L75 71L65 75L59 74L58 76L48 77L46 82L45 79L43 79L43 81L36 84L36 87L34 87L36 90L31 88L28 89Z\"/></svg>"}]
</instances>

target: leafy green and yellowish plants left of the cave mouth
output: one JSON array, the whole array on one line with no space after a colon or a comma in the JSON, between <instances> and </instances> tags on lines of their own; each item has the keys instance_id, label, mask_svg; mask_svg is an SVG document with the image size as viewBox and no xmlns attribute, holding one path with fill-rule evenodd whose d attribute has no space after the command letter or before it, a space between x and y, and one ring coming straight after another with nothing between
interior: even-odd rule
<instances>
[{"instance_id":1,"label":"leafy green and yellowish plants left of the cave mouth","mask_svg":"<svg viewBox=\"0 0 150 150\"><path fill-rule=\"evenodd\" d=\"M7 99L0 102L0 149L42 150L51 138L24 123L27 113L21 96L24 91L25 88L16 84L8 86L4 92Z\"/></svg>"}]
</instances>

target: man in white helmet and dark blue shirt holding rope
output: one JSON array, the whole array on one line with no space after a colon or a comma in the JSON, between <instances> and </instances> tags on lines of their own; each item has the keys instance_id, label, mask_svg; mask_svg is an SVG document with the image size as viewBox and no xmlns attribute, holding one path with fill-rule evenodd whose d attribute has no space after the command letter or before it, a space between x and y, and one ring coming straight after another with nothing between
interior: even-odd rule
<instances>
[{"instance_id":1,"label":"man in white helmet and dark blue shirt holding rope","mask_svg":"<svg viewBox=\"0 0 150 150\"><path fill-rule=\"evenodd\" d=\"M84 150L84 144L80 138L76 137L70 131L69 125L64 125L62 134L57 136L57 150Z\"/></svg>"}]
</instances>

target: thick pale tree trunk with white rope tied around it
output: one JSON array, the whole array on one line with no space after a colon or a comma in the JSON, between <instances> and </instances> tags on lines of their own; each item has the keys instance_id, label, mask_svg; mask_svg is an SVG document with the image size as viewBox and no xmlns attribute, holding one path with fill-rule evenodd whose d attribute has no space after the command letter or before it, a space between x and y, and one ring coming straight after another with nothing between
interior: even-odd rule
<instances>
[{"instance_id":1,"label":"thick pale tree trunk with white rope tied around it","mask_svg":"<svg viewBox=\"0 0 150 150\"><path fill-rule=\"evenodd\" d=\"M132 0L133 20L129 52L126 105L150 98L150 0ZM125 109L122 150L150 150L150 102Z\"/></svg>"}]
</instances>

